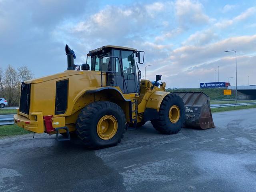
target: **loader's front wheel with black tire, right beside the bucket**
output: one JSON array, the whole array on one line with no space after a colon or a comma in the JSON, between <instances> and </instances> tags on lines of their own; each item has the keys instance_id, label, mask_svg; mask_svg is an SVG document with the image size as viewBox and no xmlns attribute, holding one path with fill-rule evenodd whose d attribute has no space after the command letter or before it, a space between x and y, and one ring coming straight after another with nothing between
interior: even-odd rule
<instances>
[{"instance_id":1,"label":"loader's front wheel with black tire, right beside the bucket","mask_svg":"<svg viewBox=\"0 0 256 192\"><path fill-rule=\"evenodd\" d=\"M172 111L172 112L171 112ZM164 134L178 133L185 122L185 106L182 98L168 94L160 105L158 119L151 120L153 127Z\"/></svg>"}]
</instances>

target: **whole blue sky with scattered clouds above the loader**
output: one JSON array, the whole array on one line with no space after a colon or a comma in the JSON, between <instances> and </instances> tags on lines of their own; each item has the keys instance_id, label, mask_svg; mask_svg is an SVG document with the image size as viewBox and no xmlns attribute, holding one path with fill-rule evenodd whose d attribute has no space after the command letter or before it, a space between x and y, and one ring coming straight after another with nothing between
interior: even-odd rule
<instances>
[{"instance_id":1,"label":"whole blue sky with scattered clouds above the loader","mask_svg":"<svg viewBox=\"0 0 256 192\"><path fill-rule=\"evenodd\" d=\"M89 50L120 45L144 50L144 76L162 74L168 88L199 82L256 84L255 0L0 0L0 68L27 65L35 77L66 70L65 44L75 64ZM230 79L232 85L235 78Z\"/></svg>"}]
</instances>

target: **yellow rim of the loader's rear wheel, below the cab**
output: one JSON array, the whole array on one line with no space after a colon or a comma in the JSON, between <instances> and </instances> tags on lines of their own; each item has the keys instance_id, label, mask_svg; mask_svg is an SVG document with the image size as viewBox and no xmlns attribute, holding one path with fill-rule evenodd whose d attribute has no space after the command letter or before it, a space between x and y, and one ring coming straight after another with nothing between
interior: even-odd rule
<instances>
[{"instance_id":1,"label":"yellow rim of the loader's rear wheel, below the cab","mask_svg":"<svg viewBox=\"0 0 256 192\"><path fill-rule=\"evenodd\" d=\"M117 132L117 120L112 115L105 115L100 118L97 124L97 134L103 140L109 140Z\"/></svg>"}]
</instances>

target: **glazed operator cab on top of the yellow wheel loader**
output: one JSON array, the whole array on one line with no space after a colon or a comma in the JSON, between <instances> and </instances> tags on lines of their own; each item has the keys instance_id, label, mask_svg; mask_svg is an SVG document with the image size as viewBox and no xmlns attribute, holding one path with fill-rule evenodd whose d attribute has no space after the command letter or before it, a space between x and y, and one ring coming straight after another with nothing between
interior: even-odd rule
<instances>
[{"instance_id":1,"label":"glazed operator cab on top of the yellow wheel loader","mask_svg":"<svg viewBox=\"0 0 256 192\"><path fill-rule=\"evenodd\" d=\"M119 86L123 93L138 93L142 58L136 49L122 46L103 46L87 54L86 63L92 71L106 74L106 86Z\"/></svg>"}]
</instances>

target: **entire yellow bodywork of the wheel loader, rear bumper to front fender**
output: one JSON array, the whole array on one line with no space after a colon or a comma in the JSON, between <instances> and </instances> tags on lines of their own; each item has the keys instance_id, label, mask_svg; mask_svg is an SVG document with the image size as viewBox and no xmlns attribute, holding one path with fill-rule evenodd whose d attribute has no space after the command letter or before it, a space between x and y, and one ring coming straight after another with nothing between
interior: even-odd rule
<instances>
[{"instance_id":1,"label":"entire yellow bodywork of the wheel loader, rear bumper to front fender","mask_svg":"<svg viewBox=\"0 0 256 192\"><path fill-rule=\"evenodd\" d=\"M68 100L64 114L55 114L56 82L68 79ZM111 101L118 104L126 116L127 122L137 118L142 121L145 108L154 108L159 111L163 98L169 94L164 92L164 86L151 89L149 80L142 80L140 95L137 93L123 94L119 87L106 87L106 75L99 71L68 70L55 75L32 79L25 82L31 83L29 114L17 112L14 116L15 123L32 132L46 132L43 116L52 116L53 128L67 126L69 131L76 129L76 120L84 106L95 101ZM102 86L101 86L102 85ZM138 101L138 114L132 104ZM60 130L66 132L65 130ZM55 134L50 132L49 134Z\"/></svg>"}]
</instances>

